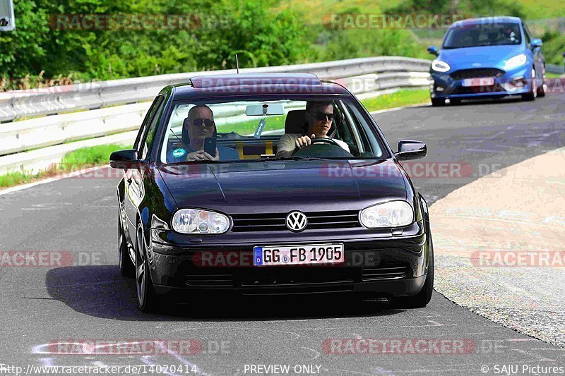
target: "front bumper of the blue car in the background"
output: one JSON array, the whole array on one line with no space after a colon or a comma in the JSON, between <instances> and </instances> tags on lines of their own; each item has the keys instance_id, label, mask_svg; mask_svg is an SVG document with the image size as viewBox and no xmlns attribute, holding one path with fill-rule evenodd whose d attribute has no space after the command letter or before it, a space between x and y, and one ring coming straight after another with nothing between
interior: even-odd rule
<instances>
[{"instance_id":1,"label":"front bumper of the blue car in the background","mask_svg":"<svg viewBox=\"0 0 565 376\"><path fill-rule=\"evenodd\" d=\"M532 91L532 73L527 65L504 71L494 77L494 85L465 87L463 79L454 79L452 72L432 71L430 97L434 99L481 99L523 95Z\"/></svg>"}]
</instances>

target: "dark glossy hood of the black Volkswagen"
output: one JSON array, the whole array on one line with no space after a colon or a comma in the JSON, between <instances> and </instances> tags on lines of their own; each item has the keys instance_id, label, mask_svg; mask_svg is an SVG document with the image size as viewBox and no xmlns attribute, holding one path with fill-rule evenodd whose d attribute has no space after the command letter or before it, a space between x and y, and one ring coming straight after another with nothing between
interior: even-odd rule
<instances>
[{"instance_id":1,"label":"dark glossy hood of the black Volkswagen","mask_svg":"<svg viewBox=\"0 0 565 376\"><path fill-rule=\"evenodd\" d=\"M386 161L283 161L160 166L178 207L231 213L359 210L406 198L405 175Z\"/></svg>"}]
</instances>

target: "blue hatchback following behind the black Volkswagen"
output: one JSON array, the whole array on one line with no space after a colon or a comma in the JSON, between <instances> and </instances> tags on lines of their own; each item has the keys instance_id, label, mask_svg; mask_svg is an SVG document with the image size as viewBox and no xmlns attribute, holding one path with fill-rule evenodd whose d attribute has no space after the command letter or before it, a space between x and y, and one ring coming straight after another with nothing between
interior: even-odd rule
<instances>
[{"instance_id":1,"label":"blue hatchback following behind the black Volkswagen","mask_svg":"<svg viewBox=\"0 0 565 376\"><path fill-rule=\"evenodd\" d=\"M544 97L545 57L542 40L531 37L517 17L471 18L453 23L441 49L428 48L436 59L430 67L432 105L446 99L483 99L520 95Z\"/></svg>"}]
</instances>

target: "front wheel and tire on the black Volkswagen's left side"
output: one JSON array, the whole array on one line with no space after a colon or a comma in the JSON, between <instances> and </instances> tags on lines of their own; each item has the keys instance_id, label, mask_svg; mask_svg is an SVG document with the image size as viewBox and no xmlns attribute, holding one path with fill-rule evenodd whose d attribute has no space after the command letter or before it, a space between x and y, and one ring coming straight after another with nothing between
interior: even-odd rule
<instances>
[{"instance_id":1,"label":"front wheel and tire on the black Volkswagen's left side","mask_svg":"<svg viewBox=\"0 0 565 376\"><path fill-rule=\"evenodd\" d=\"M141 224L136 232L136 303L138 310L143 313L156 313L161 303L160 296L153 288Z\"/></svg>"}]
</instances>

